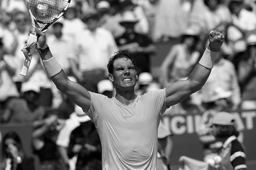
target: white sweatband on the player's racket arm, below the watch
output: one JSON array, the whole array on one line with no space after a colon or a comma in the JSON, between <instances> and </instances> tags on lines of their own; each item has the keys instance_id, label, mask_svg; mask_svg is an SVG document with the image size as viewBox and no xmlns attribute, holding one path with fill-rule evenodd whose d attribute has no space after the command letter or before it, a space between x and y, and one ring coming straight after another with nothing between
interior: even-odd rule
<instances>
[{"instance_id":1,"label":"white sweatband on the player's racket arm, below the watch","mask_svg":"<svg viewBox=\"0 0 256 170\"><path fill-rule=\"evenodd\" d=\"M62 69L60 63L58 63L58 61L54 57L52 57L48 60L42 60L42 63L44 65L44 69L49 77L55 76Z\"/></svg>"}]
</instances>

